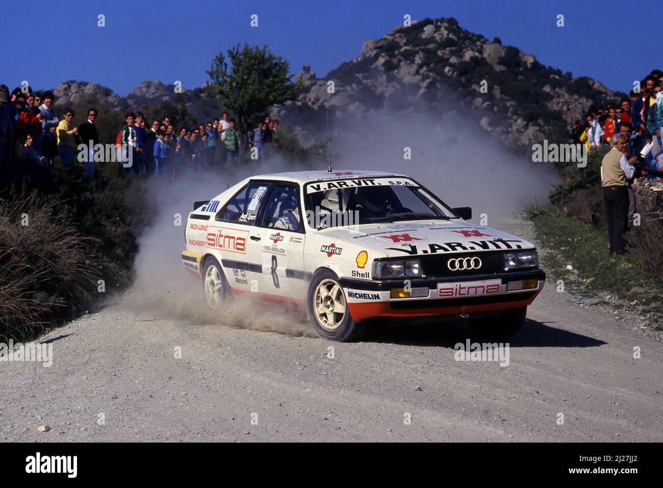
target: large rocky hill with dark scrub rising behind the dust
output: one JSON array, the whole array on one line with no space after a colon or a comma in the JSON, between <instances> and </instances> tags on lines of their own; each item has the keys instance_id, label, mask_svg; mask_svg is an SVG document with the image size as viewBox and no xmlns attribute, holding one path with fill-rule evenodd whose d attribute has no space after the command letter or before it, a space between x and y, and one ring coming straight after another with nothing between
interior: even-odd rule
<instances>
[{"instance_id":1,"label":"large rocky hill with dark scrub rising behind the dust","mask_svg":"<svg viewBox=\"0 0 663 488\"><path fill-rule=\"evenodd\" d=\"M380 114L465 112L481 129L520 150L564 137L591 106L623 96L591 78L543 66L499 39L490 42L466 31L453 18L396 27L382 39L366 41L358 58L324 78L304 66L295 79L302 92L295 102L277 107L274 116L304 137L323 130L328 111L330 125L345 118L367 122Z\"/></svg>"}]
</instances>

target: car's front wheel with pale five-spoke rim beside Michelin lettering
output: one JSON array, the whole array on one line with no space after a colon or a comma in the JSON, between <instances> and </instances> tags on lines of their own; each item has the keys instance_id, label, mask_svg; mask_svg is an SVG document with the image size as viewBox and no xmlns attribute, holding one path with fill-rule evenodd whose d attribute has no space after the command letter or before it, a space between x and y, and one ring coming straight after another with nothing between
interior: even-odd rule
<instances>
[{"instance_id":1,"label":"car's front wheel with pale five-spoke rim beside Michelin lettering","mask_svg":"<svg viewBox=\"0 0 663 488\"><path fill-rule=\"evenodd\" d=\"M363 324L350 316L345 293L331 270L318 270L308 285L308 317L320 337L330 341L354 341L364 332Z\"/></svg>"}]
</instances>

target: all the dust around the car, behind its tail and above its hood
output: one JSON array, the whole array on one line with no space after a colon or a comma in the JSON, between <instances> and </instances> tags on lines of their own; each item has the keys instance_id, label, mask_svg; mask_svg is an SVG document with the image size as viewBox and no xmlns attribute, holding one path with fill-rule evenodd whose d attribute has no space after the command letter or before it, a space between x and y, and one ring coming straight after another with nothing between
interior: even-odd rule
<instances>
[{"instance_id":1,"label":"all the dust around the car, behind its tail and above its hood","mask_svg":"<svg viewBox=\"0 0 663 488\"><path fill-rule=\"evenodd\" d=\"M324 133L320 134L324 136ZM473 207L473 221L486 214L499 228L524 206L544 203L556 179L552 168L516 157L479 129L468 116L410 114L375 116L372 121L341 118L331 127L335 170L371 169L404 173L450 206ZM412 159L404 159L404 148ZM242 179L304 169L283 159L237 165L232 171L191 171L181 179L151 178L145 188L154 223L139 239L135 284L123 303L138 313L317 337L308 316L235 297L220 311L206 305L202 286L184 270L184 230L194 201L208 200ZM321 167L319 169L326 169ZM177 216L181 216L177 225Z\"/></svg>"}]
</instances>

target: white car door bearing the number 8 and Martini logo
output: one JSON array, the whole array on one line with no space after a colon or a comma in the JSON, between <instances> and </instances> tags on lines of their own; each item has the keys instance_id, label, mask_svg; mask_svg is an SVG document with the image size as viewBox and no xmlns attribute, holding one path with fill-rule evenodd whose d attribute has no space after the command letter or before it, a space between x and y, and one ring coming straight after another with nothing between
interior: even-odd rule
<instances>
[{"instance_id":1,"label":"white car door bearing the number 8 and Martini logo","mask_svg":"<svg viewBox=\"0 0 663 488\"><path fill-rule=\"evenodd\" d=\"M299 185L275 182L258 224L265 241L261 258L263 286L271 295L294 299L306 295L303 215Z\"/></svg>"}]
</instances>

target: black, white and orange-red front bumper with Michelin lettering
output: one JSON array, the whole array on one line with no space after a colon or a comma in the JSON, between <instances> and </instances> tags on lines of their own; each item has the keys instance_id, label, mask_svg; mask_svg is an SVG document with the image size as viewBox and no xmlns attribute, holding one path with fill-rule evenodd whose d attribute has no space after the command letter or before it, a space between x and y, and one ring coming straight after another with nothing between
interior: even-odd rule
<instances>
[{"instance_id":1,"label":"black, white and orange-red front bumper with Michelin lettering","mask_svg":"<svg viewBox=\"0 0 663 488\"><path fill-rule=\"evenodd\" d=\"M438 298L440 284L472 284L500 280L499 292L463 297ZM535 288L509 290L512 282L537 280ZM371 317L426 317L482 313L526 307L536 298L546 282L543 270L522 270L497 274L477 274L452 278L426 278L410 280L412 291L419 296L392 298L392 289L402 288L403 280L356 280L342 278L347 306L352 318L361 322ZM496 286L496 285L495 285Z\"/></svg>"}]
</instances>

